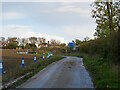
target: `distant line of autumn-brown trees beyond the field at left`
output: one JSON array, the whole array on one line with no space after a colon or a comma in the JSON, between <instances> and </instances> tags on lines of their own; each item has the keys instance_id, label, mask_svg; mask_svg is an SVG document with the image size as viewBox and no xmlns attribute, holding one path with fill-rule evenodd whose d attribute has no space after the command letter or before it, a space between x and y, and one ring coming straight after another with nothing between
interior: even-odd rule
<instances>
[{"instance_id":1,"label":"distant line of autumn-brown trees beyond the field at left","mask_svg":"<svg viewBox=\"0 0 120 90\"><path fill-rule=\"evenodd\" d=\"M0 37L2 48L4 49L15 49L16 47L32 48L37 47L36 44L47 43L44 37L29 37L29 38L18 38L18 37ZM51 39L51 44L60 44L59 40ZM5 46L4 46L5 44Z\"/></svg>"}]
</instances>

